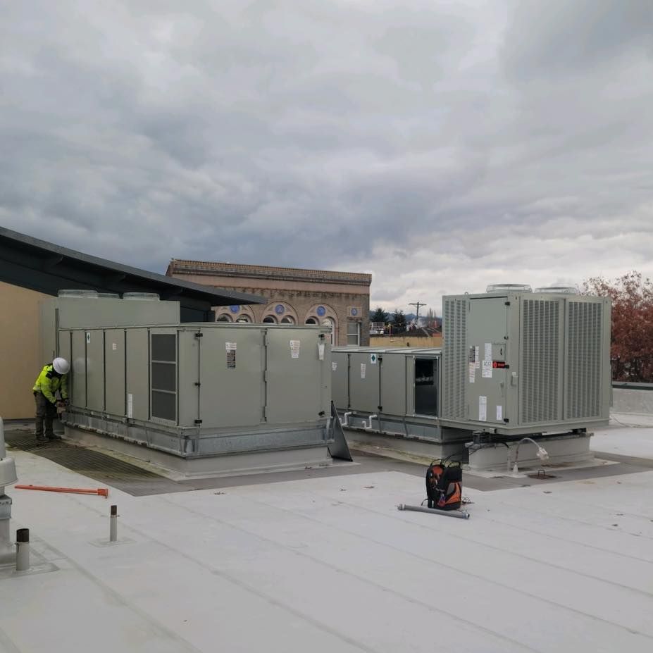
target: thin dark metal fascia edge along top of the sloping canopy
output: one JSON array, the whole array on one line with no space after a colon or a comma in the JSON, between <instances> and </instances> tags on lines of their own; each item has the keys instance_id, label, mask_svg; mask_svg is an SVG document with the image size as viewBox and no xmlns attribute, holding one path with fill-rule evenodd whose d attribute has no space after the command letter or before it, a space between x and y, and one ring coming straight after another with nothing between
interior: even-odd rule
<instances>
[{"instance_id":1,"label":"thin dark metal fascia edge along top of the sloping canopy","mask_svg":"<svg viewBox=\"0 0 653 653\"><path fill-rule=\"evenodd\" d=\"M102 268L109 272L117 272L120 274L130 275L145 281L154 282L156 284L163 285L164 287L174 289L183 288L184 290L192 291L195 294L196 299L205 299L206 301L213 301L220 299L220 302L223 299L233 299L234 301L240 302L241 304L266 304L268 301L265 297L260 295L248 294L244 292L233 292L232 290L227 289L218 289L210 290L215 288L212 286L205 286L198 283L193 283L190 281L181 280L179 278L168 277L166 275L161 275L156 272L149 272L148 270L141 270L139 268L133 268L132 266L125 265L123 263L116 263L115 261L108 261L106 259L100 259L98 256L91 256L90 254L84 254L81 251L76 251L75 249L68 249L68 247L62 247L45 240L39 240L33 236L21 234L19 232L7 229L6 227L0 226L0 239L4 238L9 241L13 241L23 246L33 248L35 250L44 251L47 254L57 254L58 256L63 256L66 259L71 259L79 263L94 266L96 268ZM216 301L213 301L213 305L216 304ZM223 304L220 304L223 305Z\"/></svg>"}]
</instances>

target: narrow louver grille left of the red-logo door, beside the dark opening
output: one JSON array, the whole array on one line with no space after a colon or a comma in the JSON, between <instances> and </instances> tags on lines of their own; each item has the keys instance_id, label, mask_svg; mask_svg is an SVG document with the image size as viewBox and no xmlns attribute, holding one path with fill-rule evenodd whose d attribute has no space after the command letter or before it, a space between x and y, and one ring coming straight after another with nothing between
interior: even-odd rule
<instances>
[{"instance_id":1,"label":"narrow louver grille left of the red-logo door, beside the dark opening","mask_svg":"<svg viewBox=\"0 0 653 653\"><path fill-rule=\"evenodd\" d=\"M467 359L467 302L465 299L445 299L442 318L443 351L442 385L444 394L442 416L464 419Z\"/></svg>"}]
</instances>

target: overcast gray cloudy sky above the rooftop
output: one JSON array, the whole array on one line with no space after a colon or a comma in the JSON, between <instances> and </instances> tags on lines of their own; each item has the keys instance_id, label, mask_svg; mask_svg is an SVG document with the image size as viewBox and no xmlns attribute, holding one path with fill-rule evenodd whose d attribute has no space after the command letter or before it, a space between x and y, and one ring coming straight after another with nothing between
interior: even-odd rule
<instances>
[{"instance_id":1,"label":"overcast gray cloudy sky above the rooftop","mask_svg":"<svg viewBox=\"0 0 653 653\"><path fill-rule=\"evenodd\" d=\"M0 0L0 224L373 273L653 276L651 0Z\"/></svg>"}]
</instances>

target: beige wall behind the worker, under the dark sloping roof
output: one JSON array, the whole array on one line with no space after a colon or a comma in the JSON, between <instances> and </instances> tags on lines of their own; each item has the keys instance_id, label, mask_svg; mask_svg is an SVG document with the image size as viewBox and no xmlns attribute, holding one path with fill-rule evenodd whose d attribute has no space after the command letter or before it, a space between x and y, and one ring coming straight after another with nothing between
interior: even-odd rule
<instances>
[{"instance_id":1,"label":"beige wall behind the worker, under the dark sloping roof","mask_svg":"<svg viewBox=\"0 0 653 653\"><path fill-rule=\"evenodd\" d=\"M0 416L34 418L32 386L47 361L39 354L39 300L47 295L0 282Z\"/></svg>"}]
</instances>

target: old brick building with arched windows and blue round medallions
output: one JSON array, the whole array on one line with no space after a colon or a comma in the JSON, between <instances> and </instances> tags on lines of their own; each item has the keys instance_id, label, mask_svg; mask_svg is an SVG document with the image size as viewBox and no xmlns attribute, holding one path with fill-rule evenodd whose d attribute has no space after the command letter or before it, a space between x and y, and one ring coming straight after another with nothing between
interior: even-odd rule
<instances>
[{"instance_id":1,"label":"old brick building with arched windows and blue round medallions","mask_svg":"<svg viewBox=\"0 0 653 653\"><path fill-rule=\"evenodd\" d=\"M327 270L170 261L170 277L266 297L267 304L216 306L216 320L327 324L334 344L369 344L372 275Z\"/></svg>"}]
</instances>

